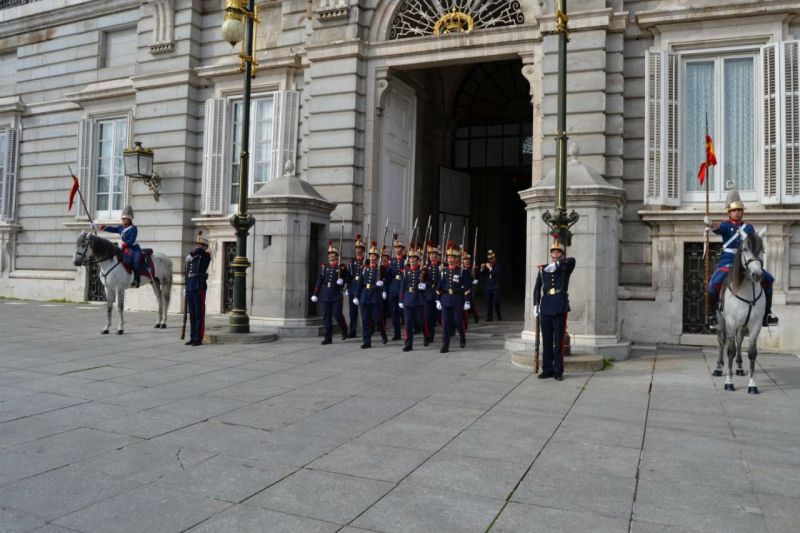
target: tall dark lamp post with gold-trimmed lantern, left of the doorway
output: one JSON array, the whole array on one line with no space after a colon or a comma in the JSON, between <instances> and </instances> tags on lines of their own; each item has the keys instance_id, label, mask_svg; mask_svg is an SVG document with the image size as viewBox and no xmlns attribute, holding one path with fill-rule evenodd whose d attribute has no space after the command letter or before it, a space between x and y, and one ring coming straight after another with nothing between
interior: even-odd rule
<instances>
[{"instance_id":1,"label":"tall dark lamp post with gold-trimmed lantern, left of the doorway","mask_svg":"<svg viewBox=\"0 0 800 533\"><path fill-rule=\"evenodd\" d=\"M244 72L242 95L242 151L239 156L239 198L236 213L231 216L231 225L236 230L236 257L233 268L233 309L228 322L231 333L250 333L250 318L247 316L247 236L255 223L247 214L250 162L250 80L255 77L258 64L255 60L256 27L258 8L255 0L227 0L225 18L222 22L222 37L231 46L242 42L239 52L239 71Z\"/></svg>"}]
</instances>

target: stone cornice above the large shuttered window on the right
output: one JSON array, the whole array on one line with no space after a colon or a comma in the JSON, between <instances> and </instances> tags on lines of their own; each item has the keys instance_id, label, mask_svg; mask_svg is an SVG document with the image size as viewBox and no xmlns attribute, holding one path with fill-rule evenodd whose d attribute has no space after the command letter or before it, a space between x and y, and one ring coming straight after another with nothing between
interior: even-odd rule
<instances>
[{"instance_id":1,"label":"stone cornice above the large shuttered window on the right","mask_svg":"<svg viewBox=\"0 0 800 533\"><path fill-rule=\"evenodd\" d=\"M800 15L800 3L797 0L780 2L752 2L749 4L723 4L703 7L685 7L640 11L636 14L636 23L642 29L662 24L702 22L727 18L750 18L760 15L784 14L787 17Z\"/></svg>"}]
</instances>

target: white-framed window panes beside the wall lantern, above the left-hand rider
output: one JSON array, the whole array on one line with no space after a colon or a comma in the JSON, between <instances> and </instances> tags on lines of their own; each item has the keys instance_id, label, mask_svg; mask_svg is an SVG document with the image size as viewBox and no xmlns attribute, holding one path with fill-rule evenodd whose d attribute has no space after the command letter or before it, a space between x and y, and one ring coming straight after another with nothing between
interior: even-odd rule
<instances>
[{"instance_id":1,"label":"white-framed window panes beside the wall lantern, above the left-hand rider","mask_svg":"<svg viewBox=\"0 0 800 533\"><path fill-rule=\"evenodd\" d=\"M122 150L128 143L128 121L97 121L95 161L97 180L95 209L98 218L114 218L122 211L125 200L125 168Z\"/></svg>"}]
</instances>

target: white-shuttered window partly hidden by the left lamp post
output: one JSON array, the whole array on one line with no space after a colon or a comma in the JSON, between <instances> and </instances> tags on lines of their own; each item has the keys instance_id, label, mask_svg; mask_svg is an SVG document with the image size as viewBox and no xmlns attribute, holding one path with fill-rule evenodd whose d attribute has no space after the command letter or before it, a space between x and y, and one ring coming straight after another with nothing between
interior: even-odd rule
<instances>
[{"instance_id":1,"label":"white-shuttered window partly hidden by the left lamp post","mask_svg":"<svg viewBox=\"0 0 800 533\"><path fill-rule=\"evenodd\" d=\"M283 174L295 163L300 93L276 91L250 102L249 194ZM242 100L211 98L206 102L203 140L204 214L235 211L239 201L239 157Z\"/></svg>"}]
</instances>

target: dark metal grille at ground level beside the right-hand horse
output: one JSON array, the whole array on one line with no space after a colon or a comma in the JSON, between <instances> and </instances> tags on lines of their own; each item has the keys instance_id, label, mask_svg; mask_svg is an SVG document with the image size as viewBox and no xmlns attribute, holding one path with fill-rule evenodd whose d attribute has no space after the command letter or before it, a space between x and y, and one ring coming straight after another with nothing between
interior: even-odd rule
<instances>
[{"instance_id":1,"label":"dark metal grille at ground level beside the right-hand horse","mask_svg":"<svg viewBox=\"0 0 800 533\"><path fill-rule=\"evenodd\" d=\"M711 272L722 252L722 243L710 245ZM705 324L706 260L702 242L687 242L683 248L683 332L713 334Z\"/></svg>"}]
</instances>

